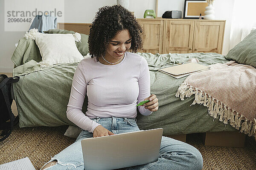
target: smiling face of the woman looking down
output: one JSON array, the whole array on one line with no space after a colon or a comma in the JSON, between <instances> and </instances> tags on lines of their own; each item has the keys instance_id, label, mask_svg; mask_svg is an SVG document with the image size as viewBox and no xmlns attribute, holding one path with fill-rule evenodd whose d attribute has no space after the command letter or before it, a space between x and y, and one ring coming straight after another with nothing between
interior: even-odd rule
<instances>
[{"instance_id":1,"label":"smiling face of the woman looking down","mask_svg":"<svg viewBox=\"0 0 256 170\"><path fill-rule=\"evenodd\" d=\"M125 52L128 51L130 47L131 47L131 35L128 29L124 29L118 32L116 36L109 41L108 46L106 48L106 55L104 58L108 62L115 63L124 57Z\"/></svg>"}]
</instances>

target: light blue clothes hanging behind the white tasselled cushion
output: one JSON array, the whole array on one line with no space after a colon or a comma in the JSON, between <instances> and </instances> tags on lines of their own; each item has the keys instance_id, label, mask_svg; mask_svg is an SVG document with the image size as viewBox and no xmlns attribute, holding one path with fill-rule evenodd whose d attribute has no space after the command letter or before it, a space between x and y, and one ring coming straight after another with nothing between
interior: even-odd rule
<instances>
[{"instance_id":1,"label":"light blue clothes hanging behind the white tasselled cushion","mask_svg":"<svg viewBox=\"0 0 256 170\"><path fill-rule=\"evenodd\" d=\"M57 17L37 15L35 16L29 30L33 28L38 29L38 32L42 33L49 29L57 29Z\"/></svg>"}]
</instances>

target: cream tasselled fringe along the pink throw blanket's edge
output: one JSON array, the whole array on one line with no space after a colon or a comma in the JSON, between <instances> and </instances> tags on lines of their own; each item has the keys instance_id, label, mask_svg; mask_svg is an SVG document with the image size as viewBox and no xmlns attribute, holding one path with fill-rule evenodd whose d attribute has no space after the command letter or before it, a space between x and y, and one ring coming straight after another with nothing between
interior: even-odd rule
<instances>
[{"instance_id":1,"label":"cream tasselled fringe along the pink throw blanket's edge","mask_svg":"<svg viewBox=\"0 0 256 170\"><path fill-rule=\"evenodd\" d=\"M219 121L222 121L224 124L230 124L232 127L236 128L244 134L249 136L256 136L256 122L248 121L244 118L243 115L235 112L233 109L225 106L220 101L212 98L210 95L207 95L205 92L190 86L189 84L182 83L180 84L176 97L180 97L180 100L183 101L184 97L191 97L195 94L195 100L190 105L194 104L203 104L205 107L208 107L208 114L213 118L218 118Z\"/></svg>"}]
</instances>

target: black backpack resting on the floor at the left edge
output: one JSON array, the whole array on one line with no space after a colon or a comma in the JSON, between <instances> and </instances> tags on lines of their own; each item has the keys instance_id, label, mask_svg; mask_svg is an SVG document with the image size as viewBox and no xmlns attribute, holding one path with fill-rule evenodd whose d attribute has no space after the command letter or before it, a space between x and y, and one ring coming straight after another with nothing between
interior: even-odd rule
<instances>
[{"instance_id":1,"label":"black backpack resting on the floor at the left edge","mask_svg":"<svg viewBox=\"0 0 256 170\"><path fill-rule=\"evenodd\" d=\"M0 75L0 141L8 138L12 133L14 125L18 123L18 116L15 118L12 113L13 90L12 83L16 83L20 77L8 77Z\"/></svg>"}]
</instances>

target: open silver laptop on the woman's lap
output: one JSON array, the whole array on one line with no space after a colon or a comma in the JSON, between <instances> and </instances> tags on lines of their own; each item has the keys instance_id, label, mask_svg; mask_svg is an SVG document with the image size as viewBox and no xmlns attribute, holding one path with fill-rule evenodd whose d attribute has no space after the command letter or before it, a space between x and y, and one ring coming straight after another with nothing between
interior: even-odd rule
<instances>
[{"instance_id":1,"label":"open silver laptop on the woman's lap","mask_svg":"<svg viewBox=\"0 0 256 170\"><path fill-rule=\"evenodd\" d=\"M81 140L85 170L113 170L158 160L163 128Z\"/></svg>"}]
</instances>

